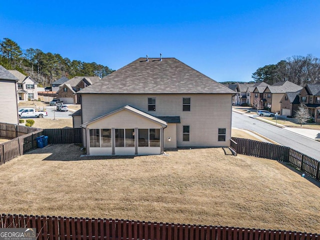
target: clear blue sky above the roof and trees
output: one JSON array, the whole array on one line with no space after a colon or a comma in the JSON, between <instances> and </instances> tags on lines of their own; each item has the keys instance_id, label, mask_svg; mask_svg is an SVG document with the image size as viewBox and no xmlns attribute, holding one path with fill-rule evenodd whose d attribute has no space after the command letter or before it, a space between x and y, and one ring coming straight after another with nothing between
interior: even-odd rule
<instances>
[{"instance_id":1,"label":"clear blue sky above the roof and trees","mask_svg":"<svg viewBox=\"0 0 320 240\"><path fill-rule=\"evenodd\" d=\"M286 57L320 57L319 12L318 0L8 0L0 39L115 70L162 53L216 81L249 81Z\"/></svg>"}]
</instances>

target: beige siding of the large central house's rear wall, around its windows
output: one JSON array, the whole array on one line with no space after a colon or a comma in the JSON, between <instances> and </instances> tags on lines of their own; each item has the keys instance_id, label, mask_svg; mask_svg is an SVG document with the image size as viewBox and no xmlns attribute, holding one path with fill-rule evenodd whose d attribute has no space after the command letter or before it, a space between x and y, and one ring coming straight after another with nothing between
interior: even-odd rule
<instances>
[{"instance_id":1,"label":"beige siding of the large central house's rear wall, around its windows","mask_svg":"<svg viewBox=\"0 0 320 240\"><path fill-rule=\"evenodd\" d=\"M231 94L81 94L82 122L125 105L154 116L180 116L177 146L228 146L231 135ZM147 98L155 97L155 111ZM190 97L190 111L182 111L182 98ZM129 118L128 118L129 119ZM127 120L127 119L125 119ZM182 126L190 126L190 141L182 141ZM226 128L226 141L218 141L218 128Z\"/></svg>"}]
</instances>

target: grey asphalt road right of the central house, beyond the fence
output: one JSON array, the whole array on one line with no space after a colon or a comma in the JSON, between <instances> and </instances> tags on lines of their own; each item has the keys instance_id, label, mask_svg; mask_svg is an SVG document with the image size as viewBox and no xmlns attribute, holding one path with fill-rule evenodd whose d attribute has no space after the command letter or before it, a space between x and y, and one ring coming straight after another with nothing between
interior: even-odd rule
<instances>
[{"instance_id":1,"label":"grey asphalt road right of the central house, beyond the fence","mask_svg":"<svg viewBox=\"0 0 320 240\"><path fill-rule=\"evenodd\" d=\"M277 143L320 160L320 142L269 123L232 112L232 127L255 131Z\"/></svg>"}]
</instances>

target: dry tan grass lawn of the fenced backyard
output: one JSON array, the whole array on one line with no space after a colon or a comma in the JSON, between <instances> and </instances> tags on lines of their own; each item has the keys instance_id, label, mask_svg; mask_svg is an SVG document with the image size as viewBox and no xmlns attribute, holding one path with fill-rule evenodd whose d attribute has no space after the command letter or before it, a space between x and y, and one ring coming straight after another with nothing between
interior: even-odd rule
<instances>
[{"instance_id":1,"label":"dry tan grass lawn of the fenced backyard","mask_svg":"<svg viewBox=\"0 0 320 240\"><path fill-rule=\"evenodd\" d=\"M82 156L48 145L0 166L0 212L320 232L320 191L268 159L221 148Z\"/></svg>"}]
</instances>

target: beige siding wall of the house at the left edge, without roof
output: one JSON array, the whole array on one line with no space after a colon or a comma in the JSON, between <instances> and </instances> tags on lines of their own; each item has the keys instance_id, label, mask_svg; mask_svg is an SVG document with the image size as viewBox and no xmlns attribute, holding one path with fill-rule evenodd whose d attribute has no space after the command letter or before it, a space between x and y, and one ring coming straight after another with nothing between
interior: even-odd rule
<instances>
[{"instance_id":1,"label":"beige siding wall of the house at the left edge, without roof","mask_svg":"<svg viewBox=\"0 0 320 240\"><path fill-rule=\"evenodd\" d=\"M18 124L15 81L0 80L0 102L0 122Z\"/></svg>"}]
</instances>

